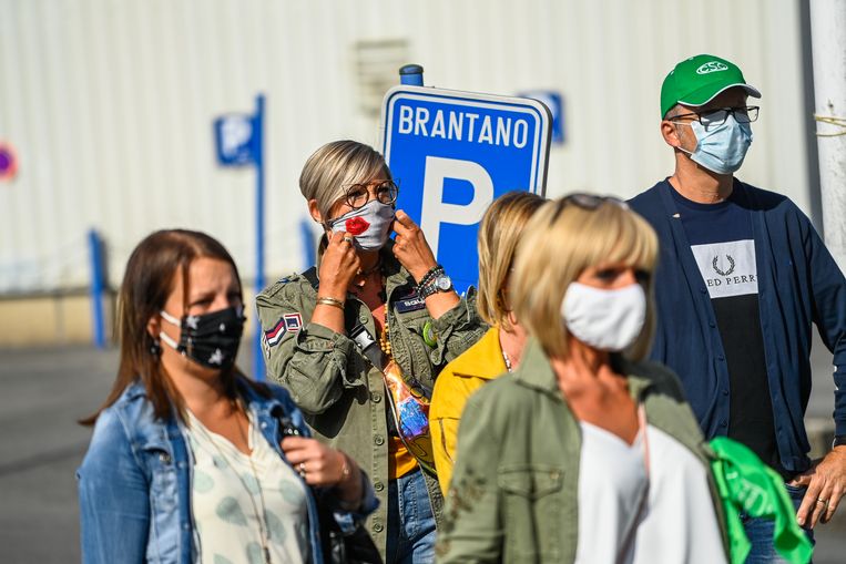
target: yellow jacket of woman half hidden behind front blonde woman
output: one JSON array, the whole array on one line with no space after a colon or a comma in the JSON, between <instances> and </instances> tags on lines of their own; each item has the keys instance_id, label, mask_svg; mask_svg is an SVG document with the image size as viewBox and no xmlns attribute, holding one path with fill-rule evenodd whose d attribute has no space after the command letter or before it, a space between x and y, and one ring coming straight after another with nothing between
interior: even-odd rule
<instances>
[{"instance_id":1,"label":"yellow jacket of woman half hidden behind front blonde woman","mask_svg":"<svg viewBox=\"0 0 846 564\"><path fill-rule=\"evenodd\" d=\"M452 478L458 422L467 399L488 380L506 372L508 369L499 345L499 328L492 327L438 375L429 406L429 432L438 483L444 495Z\"/></svg>"}]
</instances>

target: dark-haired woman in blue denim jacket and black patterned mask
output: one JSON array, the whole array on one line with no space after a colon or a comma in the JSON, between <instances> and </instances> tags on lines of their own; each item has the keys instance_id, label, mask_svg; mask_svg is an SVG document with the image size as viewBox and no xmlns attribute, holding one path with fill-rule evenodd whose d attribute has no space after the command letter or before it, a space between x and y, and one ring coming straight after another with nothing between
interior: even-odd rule
<instances>
[{"instance_id":1,"label":"dark-haired woman in blue denim jacket and black patterned mask","mask_svg":"<svg viewBox=\"0 0 846 564\"><path fill-rule=\"evenodd\" d=\"M318 504L353 531L376 506L345 453L277 386L235 367L241 280L212 237L156 232L130 257L121 360L77 476L86 563L324 562Z\"/></svg>"}]
</instances>

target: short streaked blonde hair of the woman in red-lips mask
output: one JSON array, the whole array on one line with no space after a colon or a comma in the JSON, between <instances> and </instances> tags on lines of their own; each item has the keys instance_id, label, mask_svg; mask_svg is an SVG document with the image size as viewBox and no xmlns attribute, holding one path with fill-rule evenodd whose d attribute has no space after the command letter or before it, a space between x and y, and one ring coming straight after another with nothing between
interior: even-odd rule
<instances>
[{"instance_id":1,"label":"short streaked blonde hair of the woman in red-lips mask","mask_svg":"<svg viewBox=\"0 0 846 564\"><path fill-rule=\"evenodd\" d=\"M344 197L350 184L374 178L391 180L381 154L357 141L333 141L312 153L299 175L299 191L306 201L316 199L324 223L329 209Z\"/></svg>"}]
</instances>

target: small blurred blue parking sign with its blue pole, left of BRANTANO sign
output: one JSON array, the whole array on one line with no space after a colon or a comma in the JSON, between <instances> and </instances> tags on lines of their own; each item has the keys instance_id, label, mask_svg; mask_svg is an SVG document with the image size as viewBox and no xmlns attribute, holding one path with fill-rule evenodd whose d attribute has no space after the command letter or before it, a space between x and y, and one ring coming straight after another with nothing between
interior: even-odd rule
<instances>
[{"instance_id":1,"label":"small blurred blue parking sign with its blue pole, left of BRANTANO sign","mask_svg":"<svg viewBox=\"0 0 846 564\"><path fill-rule=\"evenodd\" d=\"M255 186L255 293L264 289L264 95L256 95L253 115L228 114L214 121L217 162L221 166L254 165ZM255 316L253 331L253 378L264 380L265 367L262 356L262 326Z\"/></svg>"}]
</instances>

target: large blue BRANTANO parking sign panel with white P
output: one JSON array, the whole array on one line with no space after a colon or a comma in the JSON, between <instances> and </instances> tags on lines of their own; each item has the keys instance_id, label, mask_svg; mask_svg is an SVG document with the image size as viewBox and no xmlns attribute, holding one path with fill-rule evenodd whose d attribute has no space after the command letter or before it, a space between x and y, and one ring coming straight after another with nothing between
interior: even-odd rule
<instances>
[{"instance_id":1,"label":"large blue BRANTANO parking sign panel with white P","mask_svg":"<svg viewBox=\"0 0 846 564\"><path fill-rule=\"evenodd\" d=\"M397 86L383 102L383 152L397 206L417 222L458 291L478 284L479 222L506 192L543 195L550 112L530 99Z\"/></svg>"}]
</instances>

